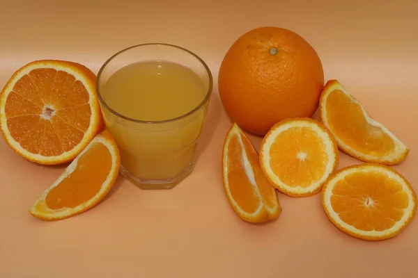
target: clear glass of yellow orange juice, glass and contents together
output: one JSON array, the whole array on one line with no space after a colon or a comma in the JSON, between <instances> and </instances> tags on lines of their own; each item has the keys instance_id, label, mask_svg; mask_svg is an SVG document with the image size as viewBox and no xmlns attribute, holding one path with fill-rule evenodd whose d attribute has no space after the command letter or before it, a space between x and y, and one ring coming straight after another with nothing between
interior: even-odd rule
<instances>
[{"instance_id":1,"label":"clear glass of yellow orange juice, glass and contents together","mask_svg":"<svg viewBox=\"0 0 418 278\"><path fill-rule=\"evenodd\" d=\"M171 44L129 47L101 67L97 91L124 177L161 189L192 172L212 92L212 74L199 56Z\"/></svg>"}]
</instances>

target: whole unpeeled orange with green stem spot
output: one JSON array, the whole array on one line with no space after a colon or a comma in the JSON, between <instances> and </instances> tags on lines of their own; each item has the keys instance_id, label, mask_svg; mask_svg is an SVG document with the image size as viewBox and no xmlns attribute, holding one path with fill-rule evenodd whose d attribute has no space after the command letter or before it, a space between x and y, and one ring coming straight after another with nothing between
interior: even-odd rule
<instances>
[{"instance_id":1,"label":"whole unpeeled orange with green stem spot","mask_svg":"<svg viewBox=\"0 0 418 278\"><path fill-rule=\"evenodd\" d=\"M300 35L261 27L242 35L219 68L219 96L242 129L265 135L288 117L311 117L324 85L320 58Z\"/></svg>"}]
</instances>

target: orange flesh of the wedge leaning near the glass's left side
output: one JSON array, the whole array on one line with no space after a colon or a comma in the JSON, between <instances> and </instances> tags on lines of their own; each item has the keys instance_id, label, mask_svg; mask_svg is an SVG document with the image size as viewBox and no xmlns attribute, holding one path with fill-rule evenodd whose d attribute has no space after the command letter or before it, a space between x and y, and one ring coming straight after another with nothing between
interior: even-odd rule
<instances>
[{"instance_id":1,"label":"orange flesh of the wedge leaning near the glass's left side","mask_svg":"<svg viewBox=\"0 0 418 278\"><path fill-rule=\"evenodd\" d=\"M75 170L49 190L45 203L50 209L75 208L92 199L102 188L111 170L111 154L102 143L95 143L79 157ZM42 203L40 204L42 207Z\"/></svg>"}]
</instances>

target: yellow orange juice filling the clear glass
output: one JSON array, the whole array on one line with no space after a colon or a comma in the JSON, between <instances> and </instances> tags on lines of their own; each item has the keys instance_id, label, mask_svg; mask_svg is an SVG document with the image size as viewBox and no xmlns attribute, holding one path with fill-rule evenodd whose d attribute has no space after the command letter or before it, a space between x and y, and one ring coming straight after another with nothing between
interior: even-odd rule
<instances>
[{"instance_id":1,"label":"yellow orange juice filling the clear glass","mask_svg":"<svg viewBox=\"0 0 418 278\"><path fill-rule=\"evenodd\" d=\"M148 60L121 67L100 90L114 112L103 110L104 120L128 178L152 186L191 171L207 109L195 109L208 93L198 74L178 63Z\"/></svg>"}]
</instances>

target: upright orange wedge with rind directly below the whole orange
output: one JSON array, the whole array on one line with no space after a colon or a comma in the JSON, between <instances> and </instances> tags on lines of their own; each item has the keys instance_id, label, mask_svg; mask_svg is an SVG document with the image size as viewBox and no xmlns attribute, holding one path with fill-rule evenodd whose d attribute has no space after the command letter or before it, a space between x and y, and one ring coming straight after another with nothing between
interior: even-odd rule
<instances>
[{"instance_id":1,"label":"upright orange wedge with rind directly below the whole orange","mask_svg":"<svg viewBox=\"0 0 418 278\"><path fill-rule=\"evenodd\" d=\"M222 176L226 197L242 220L257 223L279 216L276 190L261 172L256 149L235 123L224 142Z\"/></svg>"}]
</instances>

